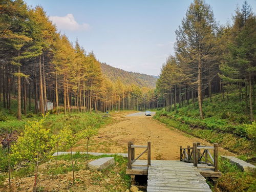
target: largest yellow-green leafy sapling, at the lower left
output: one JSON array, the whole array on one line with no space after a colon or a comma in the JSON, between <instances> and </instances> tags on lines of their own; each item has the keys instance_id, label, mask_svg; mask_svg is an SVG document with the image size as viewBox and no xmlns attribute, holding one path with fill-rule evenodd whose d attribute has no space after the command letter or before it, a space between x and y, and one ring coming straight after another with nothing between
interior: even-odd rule
<instances>
[{"instance_id":1,"label":"largest yellow-green leafy sapling, at the lower left","mask_svg":"<svg viewBox=\"0 0 256 192\"><path fill-rule=\"evenodd\" d=\"M50 130L44 127L46 116L40 120L29 121L24 132L13 145L13 155L19 160L27 160L35 166L33 192L36 192L37 173L39 164L51 156L55 147L55 137Z\"/></svg>"}]
</instances>

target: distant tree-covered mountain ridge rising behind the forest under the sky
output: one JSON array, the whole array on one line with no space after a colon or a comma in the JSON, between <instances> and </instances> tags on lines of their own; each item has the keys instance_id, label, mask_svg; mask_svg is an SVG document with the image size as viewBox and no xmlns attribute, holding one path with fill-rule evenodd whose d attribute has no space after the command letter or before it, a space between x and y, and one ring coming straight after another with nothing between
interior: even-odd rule
<instances>
[{"instance_id":1,"label":"distant tree-covered mountain ridge rising behind the forest under the sky","mask_svg":"<svg viewBox=\"0 0 256 192\"><path fill-rule=\"evenodd\" d=\"M101 69L102 73L113 82L119 78L124 84L134 83L139 87L156 87L157 76L124 71L122 69L107 65L106 63L101 63Z\"/></svg>"}]
</instances>

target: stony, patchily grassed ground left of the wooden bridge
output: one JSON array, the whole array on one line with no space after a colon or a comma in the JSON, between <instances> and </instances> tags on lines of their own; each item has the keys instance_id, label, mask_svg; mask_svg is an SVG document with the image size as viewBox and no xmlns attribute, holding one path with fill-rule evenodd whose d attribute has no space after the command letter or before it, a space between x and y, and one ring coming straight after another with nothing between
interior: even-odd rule
<instances>
[{"instance_id":1,"label":"stony, patchily grassed ground left of the wooden bridge","mask_svg":"<svg viewBox=\"0 0 256 192\"><path fill-rule=\"evenodd\" d=\"M89 162L102 157L114 157L115 164L101 171L87 169L86 154L62 155L45 159L38 167L37 191L125 191L130 186L130 177L125 174L127 160L121 156L91 156ZM34 165L18 166L12 173L12 189L31 190ZM73 184L72 172L75 170ZM7 174L0 175L0 191L6 189Z\"/></svg>"}]
</instances>

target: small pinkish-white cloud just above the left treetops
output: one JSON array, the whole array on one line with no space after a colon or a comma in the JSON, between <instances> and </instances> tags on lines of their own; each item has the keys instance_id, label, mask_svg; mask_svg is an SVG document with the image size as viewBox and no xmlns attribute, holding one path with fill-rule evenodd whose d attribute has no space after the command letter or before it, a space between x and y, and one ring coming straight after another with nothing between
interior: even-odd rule
<instances>
[{"instance_id":1,"label":"small pinkish-white cloud just above the left treetops","mask_svg":"<svg viewBox=\"0 0 256 192\"><path fill-rule=\"evenodd\" d=\"M72 13L63 17L50 16L49 19L58 27L59 30L83 31L90 29L89 24L78 24Z\"/></svg>"}]
</instances>

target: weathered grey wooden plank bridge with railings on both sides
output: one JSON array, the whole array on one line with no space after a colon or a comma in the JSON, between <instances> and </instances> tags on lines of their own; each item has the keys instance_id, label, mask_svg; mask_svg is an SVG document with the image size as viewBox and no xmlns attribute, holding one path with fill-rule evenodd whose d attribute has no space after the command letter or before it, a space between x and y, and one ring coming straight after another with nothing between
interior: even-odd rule
<instances>
[{"instance_id":1,"label":"weathered grey wooden plank bridge with railings on both sides","mask_svg":"<svg viewBox=\"0 0 256 192\"><path fill-rule=\"evenodd\" d=\"M145 150L135 158L135 148ZM213 151L212 157L210 151ZM147 160L139 158L147 152ZM205 191L211 189L206 178L215 180L221 176L218 171L218 144L202 146L193 143L193 147L180 146L180 161L151 160L151 143L133 145L128 143L128 165L126 174L131 175L132 185L144 188L148 192L156 191ZM141 186L140 176L147 176L147 184Z\"/></svg>"}]
</instances>

